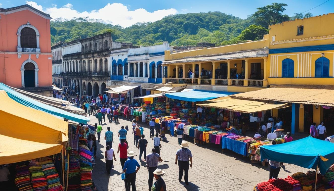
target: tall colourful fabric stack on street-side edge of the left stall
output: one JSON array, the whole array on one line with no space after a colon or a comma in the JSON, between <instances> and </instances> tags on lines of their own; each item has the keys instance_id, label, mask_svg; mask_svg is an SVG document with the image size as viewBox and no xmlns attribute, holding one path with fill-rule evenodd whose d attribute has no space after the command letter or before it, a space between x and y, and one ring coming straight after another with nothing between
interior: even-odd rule
<instances>
[{"instance_id":1,"label":"tall colourful fabric stack on street-side edge of the left stall","mask_svg":"<svg viewBox=\"0 0 334 191\"><path fill-rule=\"evenodd\" d=\"M80 190L92 190L92 162L94 161L93 153L88 150L87 146L79 146L80 159Z\"/></svg>"}]
</instances>

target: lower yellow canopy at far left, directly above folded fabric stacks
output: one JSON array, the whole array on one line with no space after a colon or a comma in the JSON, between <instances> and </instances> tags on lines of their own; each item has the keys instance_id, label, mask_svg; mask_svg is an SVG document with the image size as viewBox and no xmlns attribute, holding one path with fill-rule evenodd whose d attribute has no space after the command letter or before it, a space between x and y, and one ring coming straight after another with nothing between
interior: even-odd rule
<instances>
[{"instance_id":1,"label":"lower yellow canopy at far left, directly above folded fabric stacks","mask_svg":"<svg viewBox=\"0 0 334 191\"><path fill-rule=\"evenodd\" d=\"M60 153L63 147L60 144L45 144L1 134L0 140L0 165L47 157Z\"/></svg>"}]
</instances>

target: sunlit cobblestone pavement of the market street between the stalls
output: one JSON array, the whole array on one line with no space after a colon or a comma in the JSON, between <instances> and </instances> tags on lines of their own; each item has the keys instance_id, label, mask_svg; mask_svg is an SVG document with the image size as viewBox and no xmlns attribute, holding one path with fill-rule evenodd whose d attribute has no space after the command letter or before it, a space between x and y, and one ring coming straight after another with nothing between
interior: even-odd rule
<instances>
[{"instance_id":1,"label":"sunlit cobblestone pavement of the market street between the stalls","mask_svg":"<svg viewBox=\"0 0 334 191\"><path fill-rule=\"evenodd\" d=\"M97 119L91 115L91 124L95 124ZM153 148L153 140L150 139L148 125L140 122L140 126L144 129L145 138L148 141L146 148L147 154ZM102 125L102 133L100 143L98 143L96 165L93 166L93 180L99 191L125 191L124 181L121 180L122 167L119 161L119 154L116 155L117 161L114 161L114 167L109 176L106 173L106 165L104 152L106 142L104 134L107 127L111 127L114 132L113 148L117 152L118 148L118 131L121 126L128 125L132 129L132 123L119 117L119 123L106 123ZM129 149L134 151L138 156L135 159L141 163L136 177L136 187L138 191L148 190L148 171L144 166L145 162L139 161L139 150L133 144L133 135L131 130L128 131ZM269 167L262 166L260 163L251 163L248 157L243 157L232 151L224 151L218 145L205 144L194 145L193 139L187 139L190 150L193 155L193 167L189 168L189 185L178 182L178 165L175 165L175 153L180 148L176 137L167 135L168 143L161 141L162 150L161 158L163 162L158 164L158 168L163 169L166 174L163 179L166 182L167 190L177 191L218 191L218 190L253 190L254 186L262 181L267 181L269 176ZM143 156L142 156L143 159ZM285 178L295 172L307 172L308 169L298 167L291 164L285 164L285 169L281 168L279 178Z\"/></svg>"}]
</instances>

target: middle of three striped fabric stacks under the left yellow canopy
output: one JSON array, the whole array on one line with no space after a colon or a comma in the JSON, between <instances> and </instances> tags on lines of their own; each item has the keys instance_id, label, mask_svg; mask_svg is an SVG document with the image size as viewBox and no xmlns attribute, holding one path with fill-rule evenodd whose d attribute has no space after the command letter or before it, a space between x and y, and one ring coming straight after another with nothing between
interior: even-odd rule
<instances>
[{"instance_id":1,"label":"middle of three striped fabric stacks under the left yellow canopy","mask_svg":"<svg viewBox=\"0 0 334 191\"><path fill-rule=\"evenodd\" d=\"M46 191L47 182L42 171L42 166L38 161L32 160L29 163L29 172L31 173L31 184L34 191Z\"/></svg>"}]
</instances>

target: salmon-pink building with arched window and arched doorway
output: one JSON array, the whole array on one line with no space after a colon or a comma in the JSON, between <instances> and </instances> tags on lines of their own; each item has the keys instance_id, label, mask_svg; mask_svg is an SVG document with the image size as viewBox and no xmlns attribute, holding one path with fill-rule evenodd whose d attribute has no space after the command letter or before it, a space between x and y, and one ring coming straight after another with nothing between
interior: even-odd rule
<instances>
[{"instance_id":1,"label":"salmon-pink building with arched window and arched doorway","mask_svg":"<svg viewBox=\"0 0 334 191\"><path fill-rule=\"evenodd\" d=\"M29 5L0 8L0 82L38 94L52 90L50 19Z\"/></svg>"}]
</instances>

